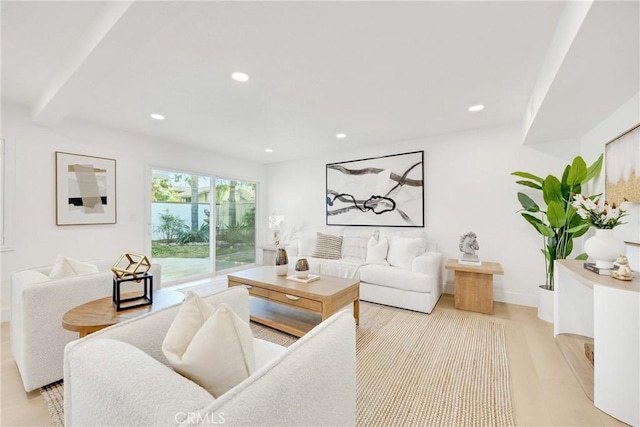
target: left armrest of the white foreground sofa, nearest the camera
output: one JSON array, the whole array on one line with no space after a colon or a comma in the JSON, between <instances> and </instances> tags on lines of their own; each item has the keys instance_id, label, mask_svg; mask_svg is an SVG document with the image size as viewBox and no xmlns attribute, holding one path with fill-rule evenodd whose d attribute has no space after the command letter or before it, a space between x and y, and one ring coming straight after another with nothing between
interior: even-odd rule
<instances>
[{"instance_id":1,"label":"left armrest of the white foreground sofa, nearest the camera","mask_svg":"<svg viewBox=\"0 0 640 427\"><path fill-rule=\"evenodd\" d=\"M121 341L96 339L65 351L66 426L176 425L213 400L196 383Z\"/></svg>"}]
</instances>

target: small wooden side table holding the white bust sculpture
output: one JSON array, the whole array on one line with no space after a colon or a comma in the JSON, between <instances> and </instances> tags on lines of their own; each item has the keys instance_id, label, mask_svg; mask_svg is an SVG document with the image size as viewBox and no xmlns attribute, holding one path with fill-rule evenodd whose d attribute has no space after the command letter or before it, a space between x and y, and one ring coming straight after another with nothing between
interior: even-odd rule
<instances>
[{"instance_id":1,"label":"small wooden side table holding the white bust sculpture","mask_svg":"<svg viewBox=\"0 0 640 427\"><path fill-rule=\"evenodd\" d=\"M467 265L450 259L444 268L455 272L455 308L493 314L493 275L504 274L500 264L483 261L482 265Z\"/></svg>"}]
</instances>

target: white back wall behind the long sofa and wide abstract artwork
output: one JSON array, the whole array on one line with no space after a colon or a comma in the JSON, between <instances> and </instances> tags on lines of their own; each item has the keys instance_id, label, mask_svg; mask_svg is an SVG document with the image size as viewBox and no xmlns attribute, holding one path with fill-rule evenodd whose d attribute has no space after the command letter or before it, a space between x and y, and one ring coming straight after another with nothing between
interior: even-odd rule
<instances>
[{"instance_id":1,"label":"white back wall behind the long sofa and wide abstract artwork","mask_svg":"<svg viewBox=\"0 0 640 427\"><path fill-rule=\"evenodd\" d=\"M516 213L523 187L510 173L561 174L579 141L524 146L514 125L267 165L267 211L283 214L289 227L322 226L327 163L416 150L425 152L425 230L444 259L458 258L460 235L475 231L480 258L505 271L494 278L495 299L536 306L536 287L545 280L542 238ZM451 272L445 277L453 282Z\"/></svg>"}]
</instances>

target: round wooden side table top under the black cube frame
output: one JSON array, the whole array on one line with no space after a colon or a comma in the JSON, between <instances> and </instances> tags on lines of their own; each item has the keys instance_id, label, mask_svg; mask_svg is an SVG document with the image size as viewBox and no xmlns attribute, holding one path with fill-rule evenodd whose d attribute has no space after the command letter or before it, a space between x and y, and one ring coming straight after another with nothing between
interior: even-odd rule
<instances>
[{"instance_id":1,"label":"round wooden side table top under the black cube frame","mask_svg":"<svg viewBox=\"0 0 640 427\"><path fill-rule=\"evenodd\" d=\"M122 294L122 298L129 298L139 293ZM142 316L170 305L179 304L184 300L184 294L176 291L157 290L153 293L153 304L116 311L113 297L108 296L79 305L67 311L62 316L62 327L68 331L78 332L80 338L104 329L107 326Z\"/></svg>"}]
</instances>

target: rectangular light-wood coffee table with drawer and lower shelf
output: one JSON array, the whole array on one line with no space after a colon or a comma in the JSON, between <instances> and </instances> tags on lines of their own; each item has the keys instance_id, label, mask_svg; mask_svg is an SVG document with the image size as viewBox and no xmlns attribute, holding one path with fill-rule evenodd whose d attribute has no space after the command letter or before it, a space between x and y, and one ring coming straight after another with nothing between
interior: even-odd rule
<instances>
[{"instance_id":1,"label":"rectangular light-wood coffee table with drawer and lower shelf","mask_svg":"<svg viewBox=\"0 0 640 427\"><path fill-rule=\"evenodd\" d=\"M301 337L329 316L353 303L353 317L360 322L360 281L321 276L302 283L276 275L263 266L228 274L229 287L249 289L250 317L279 331Z\"/></svg>"}]
</instances>

